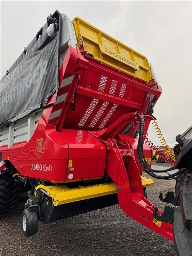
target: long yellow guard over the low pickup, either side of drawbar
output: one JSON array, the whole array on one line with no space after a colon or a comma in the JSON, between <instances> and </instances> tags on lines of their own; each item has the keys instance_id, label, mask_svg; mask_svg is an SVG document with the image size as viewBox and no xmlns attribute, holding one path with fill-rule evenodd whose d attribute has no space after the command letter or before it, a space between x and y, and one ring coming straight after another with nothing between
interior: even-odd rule
<instances>
[{"instance_id":1,"label":"long yellow guard over the low pickup, either side of drawbar","mask_svg":"<svg viewBox=\"0 0 192 256\"><path fill-rule=\"evenodd\" d=\"M153 180L143 175L141 175L141 181L143 187L153 186ZM93 197L106 196L117 192L116 184L114 182L90 185L86 187L79 186L78 188L68 188L66 185L38 185L35 188L35 196L38 189L43 190L52 198L54 206L90 199Z\"/></svg>"}]
</instances>

